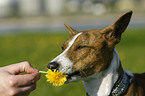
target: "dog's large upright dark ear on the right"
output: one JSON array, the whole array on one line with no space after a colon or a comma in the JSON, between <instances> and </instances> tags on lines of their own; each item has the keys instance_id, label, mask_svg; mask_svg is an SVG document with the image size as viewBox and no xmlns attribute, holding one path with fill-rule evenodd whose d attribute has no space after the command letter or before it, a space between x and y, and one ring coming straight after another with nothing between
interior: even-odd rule
<instances>
[{"instance_id":1,"label":"dog's large upright dark ear on the right","mask_svg":"<svg viewBox=\"0 0 145 96\"><path fill-rule=\"evenodd\" d=\"M113 43L117 44L120 39L122 33L125 31L128 26L130 19L132 16L132 11L128 11L123 14L116 22L112 25L105 28L102 32L105 33L105 38L109 41L114 41Z\"/></svg>"}]
</instances>

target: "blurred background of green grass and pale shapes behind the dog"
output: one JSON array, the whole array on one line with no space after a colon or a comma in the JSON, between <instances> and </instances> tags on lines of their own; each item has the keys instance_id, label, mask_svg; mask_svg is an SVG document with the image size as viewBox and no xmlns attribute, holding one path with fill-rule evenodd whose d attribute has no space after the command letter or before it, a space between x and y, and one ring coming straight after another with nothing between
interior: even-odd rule
<instances>
[{"instance_id":1,"label":"blurred background of green grass and pale shapes behind the dog","mask_svg":"<svg viewBox=\"0 0 145 96\"><path fill-rule=\"evenodd\" d=\"M133 16L116 46L124 69L145 71L145 0L0 0L0 67L29 61L38 70L61 53L74 29L103 29L132 10ZM56 88L42 74L30 96L85 96L82 82Z\"/></svg>"}]
</instances>

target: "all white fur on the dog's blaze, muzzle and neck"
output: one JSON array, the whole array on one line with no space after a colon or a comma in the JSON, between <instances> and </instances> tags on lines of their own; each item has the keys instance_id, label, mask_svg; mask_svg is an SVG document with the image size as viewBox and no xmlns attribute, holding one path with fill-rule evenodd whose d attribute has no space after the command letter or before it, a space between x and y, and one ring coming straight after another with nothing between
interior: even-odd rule
<instances>
[{"instance_id":1,"label":"all white fur on the dog's blaze, muzzle and neck","mask_svg":"<svg viewBox=\"0 0 145 96\"><path fill-rule=\"evenodd\" d=\"M67 52L71 48L75 40L81 34L82 33L76 34L69 42L68 47L63 51L63 53L61 53L59 56L57 56L55 59L51 61L51 62L58 62L60 64L59 71L61 71L62 73L67 73L67 74L72 73L73 62L70 61L70 59L67 57ZM119 64L120 64L119 56L116 49L114 49L113 59L107 70L102 71L100 73L93 74L92 76L83 79L86 92L90 96L108 96L111 92L113 85L118 79L117 69L119 67ZM133 76L131 72L128 71L125 72L128 75ZM80 77L73 76L71 79L72 79L71 81L75 81L80 79Z\"/></svg>"}]
</instances>

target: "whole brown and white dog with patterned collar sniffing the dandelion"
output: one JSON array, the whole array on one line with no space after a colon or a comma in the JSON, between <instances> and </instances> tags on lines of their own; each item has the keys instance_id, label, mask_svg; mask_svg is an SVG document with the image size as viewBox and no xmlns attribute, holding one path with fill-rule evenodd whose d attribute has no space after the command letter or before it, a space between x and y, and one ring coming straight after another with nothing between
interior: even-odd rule
<instances>
[{"instance_id":1,"label":"whole brown and white dog with patterned collar sniffing the dandelion","mask_svg":"<svg viewBox=\"0 0 145 96\"><path fill-rule=\"evenodd\" d=\"M103 30L78 32L65 24L70 38L47 67L67 74L66 83L82 80L87 96L145 96L145 73L125 71L115 49L131 16L128 11Z\"/></svg>"}]
</instances>

